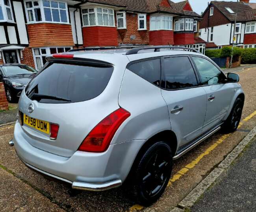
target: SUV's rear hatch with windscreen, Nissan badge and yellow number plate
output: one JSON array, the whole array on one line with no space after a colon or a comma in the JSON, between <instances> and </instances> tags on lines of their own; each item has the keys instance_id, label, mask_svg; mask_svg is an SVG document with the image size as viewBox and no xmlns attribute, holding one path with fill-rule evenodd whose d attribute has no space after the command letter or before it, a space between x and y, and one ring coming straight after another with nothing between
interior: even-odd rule
<instances>
[{"instance_id":1,"label":"SUV's rear hatch with windscreen, Nissan badge and yellow number plate","mask_svg":"<svg viewBox=\"0 0 256 212\"><path fill-rule=\"evenodd\" d=\"M119 108L119 90L108 86L115 84L109 83L113 70L93 60L48 62L20 97L26 141L53 154L74 154L86 135Z\"/></svg>"}]
</instances>

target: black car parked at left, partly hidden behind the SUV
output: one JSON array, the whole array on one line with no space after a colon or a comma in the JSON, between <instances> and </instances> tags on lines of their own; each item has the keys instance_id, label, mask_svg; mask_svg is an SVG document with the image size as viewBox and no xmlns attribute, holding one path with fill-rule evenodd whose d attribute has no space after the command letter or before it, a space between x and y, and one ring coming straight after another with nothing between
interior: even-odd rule
<instances>
[{"instance_id":1,"label":"black car parked at left, partly hidden behind the SUV","mask_svg":"<svg viewBox=\"0 0 256 212\"><path fill-rule=\"evenodd\" d=\"M17 102L21 91L36 73L35 69L24 64L0 65L0 82L4 82L7 100Z\"/></svg>"}]
</instances>

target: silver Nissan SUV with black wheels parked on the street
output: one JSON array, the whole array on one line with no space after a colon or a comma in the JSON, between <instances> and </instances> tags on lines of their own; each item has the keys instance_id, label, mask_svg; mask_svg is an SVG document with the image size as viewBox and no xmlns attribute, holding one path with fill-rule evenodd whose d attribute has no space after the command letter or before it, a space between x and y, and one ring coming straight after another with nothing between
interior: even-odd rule
<instances>
[{"instance_id":1,"label":"silver Nissan SUV with black wheels parked on the street","mask_svg":"<svg viewBox=\"0 0 256 212\"><path fill-rule=\"evenodd\" d=\"M75 189L126 181L148 205L165 190L174 159L241 119L239 76L226 77L193 49L81 50L47 60L22 91L13 142L24 164Z\"/></svg>"}]
</instances>

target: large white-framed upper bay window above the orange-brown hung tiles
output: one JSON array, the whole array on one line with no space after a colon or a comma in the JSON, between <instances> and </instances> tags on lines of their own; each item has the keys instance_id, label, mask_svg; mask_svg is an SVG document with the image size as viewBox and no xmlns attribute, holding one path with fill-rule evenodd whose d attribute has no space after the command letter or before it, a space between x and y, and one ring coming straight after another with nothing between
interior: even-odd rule
<instances>
[{"instance_id":1,"label":"large white-framed upper bay window above the orange-brown hung tiles","mask_svg":"<svg viewBox=\"0 0 256 212\"><path fill-rule=\"evenodd\" d=\"M68 23L67 3L50 0L30 0L25 2L28 23L52 22Z\"/></svg>"}]
</instances>

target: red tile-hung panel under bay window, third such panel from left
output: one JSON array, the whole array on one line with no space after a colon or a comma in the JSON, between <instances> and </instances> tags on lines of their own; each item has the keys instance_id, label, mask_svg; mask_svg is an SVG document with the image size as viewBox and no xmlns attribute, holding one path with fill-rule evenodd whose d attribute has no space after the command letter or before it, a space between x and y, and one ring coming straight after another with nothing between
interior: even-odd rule
<instances>
[{"instance_id":1,"label":"red tile-hung panel under bay window, third such panel from left","mask_svg":"<svg viewBox=\"0 0 256 212\"><path fill-rule=\"evenodd\" d=\"M158 30L149 32L150 45L173 45L173 31L171 30Z\"/></svg>"}]
</instances>

